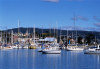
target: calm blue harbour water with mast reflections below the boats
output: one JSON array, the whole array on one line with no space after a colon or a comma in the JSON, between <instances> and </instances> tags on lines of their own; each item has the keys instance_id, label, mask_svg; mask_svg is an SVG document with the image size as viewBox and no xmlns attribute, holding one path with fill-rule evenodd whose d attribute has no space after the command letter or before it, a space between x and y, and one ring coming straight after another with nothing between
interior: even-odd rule
<instances>
[{"instance_id":1,"label":"calm blue harbour water with mast reflections below the boats","mask_svg":"<svg viewBox=\"0 0 100 69\"><path fill-rule=\"evenodd\" d=\"M100 55L65 50L61 54L0 50L0 69L100 69Z\"/></svg>"}]
</instances>

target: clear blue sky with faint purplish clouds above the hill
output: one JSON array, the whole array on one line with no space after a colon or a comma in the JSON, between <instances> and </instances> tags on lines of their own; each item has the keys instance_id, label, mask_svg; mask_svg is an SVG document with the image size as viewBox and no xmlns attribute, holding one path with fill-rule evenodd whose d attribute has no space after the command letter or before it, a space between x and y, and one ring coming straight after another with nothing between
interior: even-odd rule
<instances>
[{"instance_id":1,"label":"clear blue sky with faint purplish clouds above the hill","mask_svg":"<svg viewBox=\"0 0 100 69\"><path fill-rule=\"evenodd\" d=\"M100 0L0 0L0 29L17 28L18 20L20 27L100 31Z\"/></svg>"}]
</instances>

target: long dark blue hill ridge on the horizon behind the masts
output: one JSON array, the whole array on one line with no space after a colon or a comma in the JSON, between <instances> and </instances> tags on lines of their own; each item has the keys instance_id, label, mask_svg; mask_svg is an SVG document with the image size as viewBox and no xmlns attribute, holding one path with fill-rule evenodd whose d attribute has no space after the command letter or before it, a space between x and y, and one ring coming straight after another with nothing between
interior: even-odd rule
<instances>
[{"instance_id":1,"label":"long dark blue hill ridge on the horizon behind the masts","mask_svg":"<svg viewBox=\"0 0 100 69\"><path fill-rule=\"evenodd\" d=\"M27 30L28 30L29 33L33 33L33 28L23 28L23 27L20 27L19 29L20 29L21 33L26 33ZM43 31L43 33L50 32L50 29L40 29L40 28L35 28L35 29L36 29L36 32L38 34L41 34L42 31ZM13 30L14 33L18 33L18 28L8 29L8 30L5 30L5 31L10 32L11 30ZM55 31L58 32L58 35L60 35L60 31L61 31L61 35L67 35L67 30L55 29ZM54 29L51 29L51 33L54 33ZM76 31L75 30L68 30L68 33L70 35L72 35L72 33L73 33L73 35L75 35ZM78 30L77 34L81 35L81 36L85 36L87 34L94 34L98 38L100 38L100 32L95 32L95 31L80 31L80 30Z\"/></svg>"}]
</instances>

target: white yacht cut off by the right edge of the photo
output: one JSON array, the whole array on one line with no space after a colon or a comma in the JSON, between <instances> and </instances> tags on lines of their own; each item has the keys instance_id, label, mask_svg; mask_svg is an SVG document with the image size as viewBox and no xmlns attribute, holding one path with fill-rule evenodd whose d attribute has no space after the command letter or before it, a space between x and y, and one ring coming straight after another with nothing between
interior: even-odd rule
<instances>
[{"instance_id":1,"label":"white yacht cut off by the right edge of the photo","mask_svg":"<svg viewBox=\"0 0 100 69\"><path fill-rule=\"evenodd\" d=\"M100 45L84 50L84 54L100 54Z\"/></svg>"}]
</instances>

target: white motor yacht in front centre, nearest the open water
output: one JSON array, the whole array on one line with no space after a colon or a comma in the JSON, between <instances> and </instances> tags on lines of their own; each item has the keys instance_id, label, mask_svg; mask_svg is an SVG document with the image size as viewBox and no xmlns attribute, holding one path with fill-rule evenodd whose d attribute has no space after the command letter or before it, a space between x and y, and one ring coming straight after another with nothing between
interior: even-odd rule
<instances>
[{"instance_id":1,"label":"white motor yacht in front centre, nearest the open water","mask_svg":"<svg viewBox=\"0 0 100 69\"><path fill-rule=\"evenodd\" d=\"M50 47L43 49L42 52L45 54L60 54L61 50L56 45L54 45L54 46L50 45Z\"/></svg>"}]
</instances>

